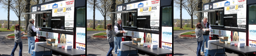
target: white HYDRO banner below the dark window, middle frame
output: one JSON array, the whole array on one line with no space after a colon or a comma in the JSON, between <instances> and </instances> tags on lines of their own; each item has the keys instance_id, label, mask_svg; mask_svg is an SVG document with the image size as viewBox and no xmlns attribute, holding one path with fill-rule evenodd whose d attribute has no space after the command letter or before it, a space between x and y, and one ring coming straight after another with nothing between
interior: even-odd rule
<instances>
[{"instance_id":1,"label":"white HYDRO banner below the dark window, middle frame","mask_svg":"<svg viewBox=\"0 0 256 56\"><path fill-rule=\"evenodd\" d=\"M162 27L162 42L172 43L172 27Z\"/></svg>"}]
</instances>

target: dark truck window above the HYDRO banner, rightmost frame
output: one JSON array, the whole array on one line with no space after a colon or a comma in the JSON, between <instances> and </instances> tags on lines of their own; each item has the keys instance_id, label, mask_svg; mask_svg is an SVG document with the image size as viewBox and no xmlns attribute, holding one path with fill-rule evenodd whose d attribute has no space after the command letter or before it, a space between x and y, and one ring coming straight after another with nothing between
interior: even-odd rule
<instances>
[{"instance_id":1,"label":"dark truck window above the HYDRO banner, rightmost frame","mask_svg":"<svg viewBox=\"0 0 256 56\"><path fill-rule=\"evenodd\" d=\"M249 24L255 24L256 21L256 5L250 5L249 6Z\"/></svg>"}]
</instances>

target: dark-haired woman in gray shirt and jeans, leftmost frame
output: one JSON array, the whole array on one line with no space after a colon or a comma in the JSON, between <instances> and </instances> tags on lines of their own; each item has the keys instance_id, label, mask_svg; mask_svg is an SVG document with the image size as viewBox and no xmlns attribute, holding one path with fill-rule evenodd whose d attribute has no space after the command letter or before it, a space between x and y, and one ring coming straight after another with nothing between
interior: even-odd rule
<instances>
[{"instance_id":1,"label":"dark-haired woman in gray shirt and jeans, leftmost frame","mask_svg":"<svg viewBox=\"0 0 256 56\"><path fill-rule=\"evenodd\" d=\"M22 56L22 40L21 40L21 37L24 35L23 33L24 32L22 32L22 34L21 34L20 25L18 25L18 24L15 25L15 30L14 30L15 45L14 45L14 49L12 49L11 56L14 56L14 51L16 50L18 45L20 46L19 56Z\"/></svg>"}]
</instances>

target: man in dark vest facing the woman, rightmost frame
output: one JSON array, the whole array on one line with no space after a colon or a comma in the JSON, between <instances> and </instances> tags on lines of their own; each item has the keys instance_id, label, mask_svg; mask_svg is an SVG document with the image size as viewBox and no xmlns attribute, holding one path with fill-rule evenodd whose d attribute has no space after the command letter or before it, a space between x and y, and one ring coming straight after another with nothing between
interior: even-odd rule
<instances>
[{"instance_id":1,"label":"man in dark vest facing the woman, rightmost frame","mask_svg":"<svg viewBox=\"0 0 256 56\"><path fill-rule=\"evenodd\" d=\"M202 27L204 29L206 29L206 32L203 33L204 40L203 40L203 44L202 44L202 47L201 47L201 51L202 51L201 53L203 54L204 53L204 42L206 42L206 48L208 48L208 41L209 41L209 36L210 36L209 35L209 33L210 33L209 30L211 30L212 27L210 27L210 23L207 22L206 17L203 18L203 22L201 22L201 24L202 24Z\"/></svg>"}]
</instances>

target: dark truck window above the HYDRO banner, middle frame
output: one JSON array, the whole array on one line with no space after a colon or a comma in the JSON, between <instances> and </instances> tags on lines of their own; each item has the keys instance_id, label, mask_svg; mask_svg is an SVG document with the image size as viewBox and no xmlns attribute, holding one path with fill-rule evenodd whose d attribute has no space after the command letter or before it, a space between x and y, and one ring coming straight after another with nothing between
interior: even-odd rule
<instances>
[{"instance_id":1,"label":"dark truck window above the HYDRO banner, middle frame","mask_svg":"<svg viewBox=\"0 0 256 56\"><path fill-rule=\"evenodd\" d=\"M162 26L172 26L172 7L162 8Z\"/></svg>"}]
</instances>

